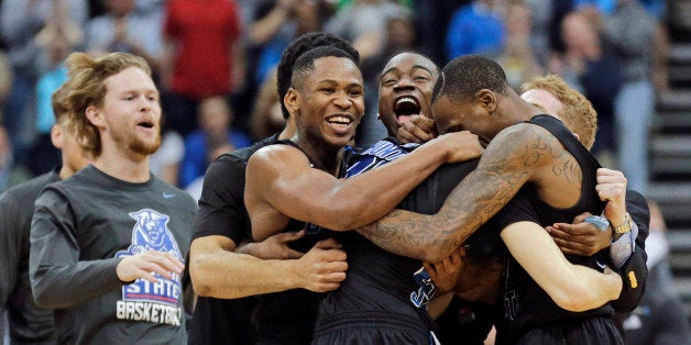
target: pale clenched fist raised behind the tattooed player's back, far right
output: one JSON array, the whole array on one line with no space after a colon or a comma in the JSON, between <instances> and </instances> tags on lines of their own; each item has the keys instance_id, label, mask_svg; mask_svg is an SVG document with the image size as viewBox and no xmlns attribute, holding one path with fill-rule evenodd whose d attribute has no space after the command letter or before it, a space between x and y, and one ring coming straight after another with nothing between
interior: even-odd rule
<instances>
[{"instance_id":1,"label":"pale clenched fist raised behind the tattooed player's back, far right","mask_svg":"<svg viewBox=\"0 0 691 345\"><path fill-rule=\"evenodd\" d=\"M600 200L606 201L604 214L612 224L624 224L626 219L626 177L618 170L600 168L595 190Z\"/></svg>"}]
</instances>

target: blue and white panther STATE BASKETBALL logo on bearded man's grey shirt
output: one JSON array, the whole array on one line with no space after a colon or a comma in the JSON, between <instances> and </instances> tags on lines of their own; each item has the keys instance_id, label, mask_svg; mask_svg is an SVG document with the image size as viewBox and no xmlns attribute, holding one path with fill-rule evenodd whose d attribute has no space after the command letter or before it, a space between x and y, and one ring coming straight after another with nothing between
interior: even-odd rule
<instances>
[{"instance_id":1,"label":"blue and white panther STATE BASKETBALL logo on bearded man's grey shirt","mask_svg":"<svg viewBox=\"0 0 691 345\"><path fill-rule=\"evenodd\" d=\"M130 216L136 221L132 229L132 244L125 251L118 252L116 257L160 251L183 260L177 242L168 229L171 218L167 214L143 209L131 212ZM136 279L122 287L122 300L117 304L118 319L180 325L183 310L178 305L183 288L179 276L174 275L173 279L158 274L153 276L156 282Z\"/></svg>"}]
</instances>

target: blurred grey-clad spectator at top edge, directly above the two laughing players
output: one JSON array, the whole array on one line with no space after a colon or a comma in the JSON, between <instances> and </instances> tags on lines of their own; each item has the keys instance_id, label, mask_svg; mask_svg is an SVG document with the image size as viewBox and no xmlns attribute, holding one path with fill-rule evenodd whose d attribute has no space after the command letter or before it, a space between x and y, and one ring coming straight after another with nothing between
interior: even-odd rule
<instances>
[{"instance_id":1,"label":"blurred grey-clad spectator at top edge, directly above the two laughing players","mask_svg":"<svg viewBox=\"0 0 691 345\"><path fill-rule=\"evenodd\" d=\"M364 60L383 49L387 19L406 10L386 0L353 0L329 19L325 31L352 42Z\"/></svg>"}]
</instances>

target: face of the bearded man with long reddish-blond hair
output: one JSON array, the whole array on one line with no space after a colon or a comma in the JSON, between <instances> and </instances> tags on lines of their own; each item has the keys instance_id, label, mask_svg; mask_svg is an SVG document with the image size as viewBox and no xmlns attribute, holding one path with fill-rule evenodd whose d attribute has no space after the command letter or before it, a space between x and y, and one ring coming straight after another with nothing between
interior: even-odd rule
<instances>
[{"instance_id":1,"label":"face of the bearded man with long reddish-blond hair","mask_svg":"<svg viewBox=\"0 0 691 345\"><path fill-rule=\"evenodd\" d=\"M106 79L103 105L96 108L95 124L103 143L110 141L138 155L150 155L161 145L161 103L151 77L129 67Z\"/></svg>"}]
</instances>

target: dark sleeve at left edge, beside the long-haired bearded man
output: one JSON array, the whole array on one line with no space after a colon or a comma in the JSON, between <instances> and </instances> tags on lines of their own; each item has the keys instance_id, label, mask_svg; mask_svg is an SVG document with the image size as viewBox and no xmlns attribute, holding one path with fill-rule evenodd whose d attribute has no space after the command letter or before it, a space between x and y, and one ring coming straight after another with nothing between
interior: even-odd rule
<instances>
[{"instance_id":1,"label":"dark sleeve at left edge, beside the long-haired bearded man","mask_svg":"<svg viewBox=\"0 0 691 345\"><path fill-rule=\"evenodd\" d=\"M0 194L0 315L17 285L20 251L22 247L21 212L13 194ZM2 325L0 325L0 329Z\"/></svg>"}]
</instances>

